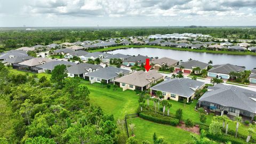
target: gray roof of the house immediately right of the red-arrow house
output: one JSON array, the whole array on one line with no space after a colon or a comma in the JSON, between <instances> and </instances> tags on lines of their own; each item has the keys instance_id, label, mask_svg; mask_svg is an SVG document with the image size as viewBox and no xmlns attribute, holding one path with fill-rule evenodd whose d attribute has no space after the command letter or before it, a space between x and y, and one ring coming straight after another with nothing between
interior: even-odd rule
<instances>
[{"instance_id":1,"label":"gray roof of the house immediately right of the red-arrow house","mask_svg":"<svg viewBox=\"0 0 256 144\"><path fill-rule=\"evenodd\" d=\"M151 87L150 89L178 94L182 97L189 98L195 93L197 89L199 89L203 85L203 82L195 81L190 78L172 78L162 83L159 83Z\"/></svg>"}]
</instances>

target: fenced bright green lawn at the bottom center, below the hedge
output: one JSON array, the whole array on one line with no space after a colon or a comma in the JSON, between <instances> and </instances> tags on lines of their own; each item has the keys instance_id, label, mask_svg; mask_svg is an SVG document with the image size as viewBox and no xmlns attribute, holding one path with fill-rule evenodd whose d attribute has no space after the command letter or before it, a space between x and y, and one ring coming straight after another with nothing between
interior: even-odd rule
<instances>
[{"instance_id":1,"label":"fenced bright green lawn at the bottom center, below the hedge","mask_svg":"<svg viewBox=\"0 0 256 144\"><path fill-rule=\"evenodd\" d=\"M169 143L184 143L192 140L190 132L174 126L145 121L139 117L127 119L127 125L131 123L135 124L134 134L135 138L139 141L138 143L141 143L143 140L153 143L154 133L156 133L157 137L164 137ZM131 134L130 130L129 134Z\"/></svg>"}]
</instances>

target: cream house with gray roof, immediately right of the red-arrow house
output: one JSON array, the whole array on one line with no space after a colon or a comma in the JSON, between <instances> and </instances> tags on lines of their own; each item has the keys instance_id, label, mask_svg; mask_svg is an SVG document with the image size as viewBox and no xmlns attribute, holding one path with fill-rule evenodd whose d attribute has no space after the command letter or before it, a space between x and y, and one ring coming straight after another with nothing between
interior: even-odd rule
<instances>
[{"instance_id":1,"label":"cream house with gray roof, immediately right of the red-arrow house","mask_svg":"<svg viewBox=\"0 0 256 144\"><path fill-rule=\"evenodd\" d=\"M157 91L161 91L166 100L186 99L190 102L195 97L196 91L203 89L204 85L205 83L190 78L171 78L151 87L150 94L156 95Z\"/></svg>"}]
</instances>

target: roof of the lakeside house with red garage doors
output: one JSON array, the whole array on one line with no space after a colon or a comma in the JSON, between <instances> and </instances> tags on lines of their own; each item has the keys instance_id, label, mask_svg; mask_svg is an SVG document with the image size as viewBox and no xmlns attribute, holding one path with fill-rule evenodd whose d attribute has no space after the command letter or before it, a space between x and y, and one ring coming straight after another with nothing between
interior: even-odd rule
<instances>
[{"instance_id":1,"label":"roof of the lakeside house with red garage doors","mask_svg":"<svg viewBox=\"0 0 256 144\"><path fill-rule=\"evenodd\" d=\"M209 64L198 61L198 60L190 60L190 61L187 61L187 62L183 62L182 64L180 64L176 67L181 67L181 66L183 66L185 69L193 69L193 68L196 68L196 67L199 67L200 69L204 69L204 68L208 67Z\"/></svg>"}]
</instances>

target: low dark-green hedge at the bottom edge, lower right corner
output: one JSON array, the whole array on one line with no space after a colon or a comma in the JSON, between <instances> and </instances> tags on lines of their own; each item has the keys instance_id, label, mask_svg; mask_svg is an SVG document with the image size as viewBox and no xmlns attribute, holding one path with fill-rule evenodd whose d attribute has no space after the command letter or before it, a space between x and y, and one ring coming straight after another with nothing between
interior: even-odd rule
<instances>
[{"instance_id":1,"label":"low dark-green hedge at the bottom edge, lower right corner","mask_svg":"<svg viewBox=\"0 0 256 144\"><path fill-rule=\"evenodd\" d=\"M223 142L223 143L228 142L228 141L230 141L232 144L246 143L246 140L237 139L231 135L225 135L225 134L213 135L213 134L207 133L206 137L209 139L212 139L214 141Z\"/></svg>"}]
</instances>

